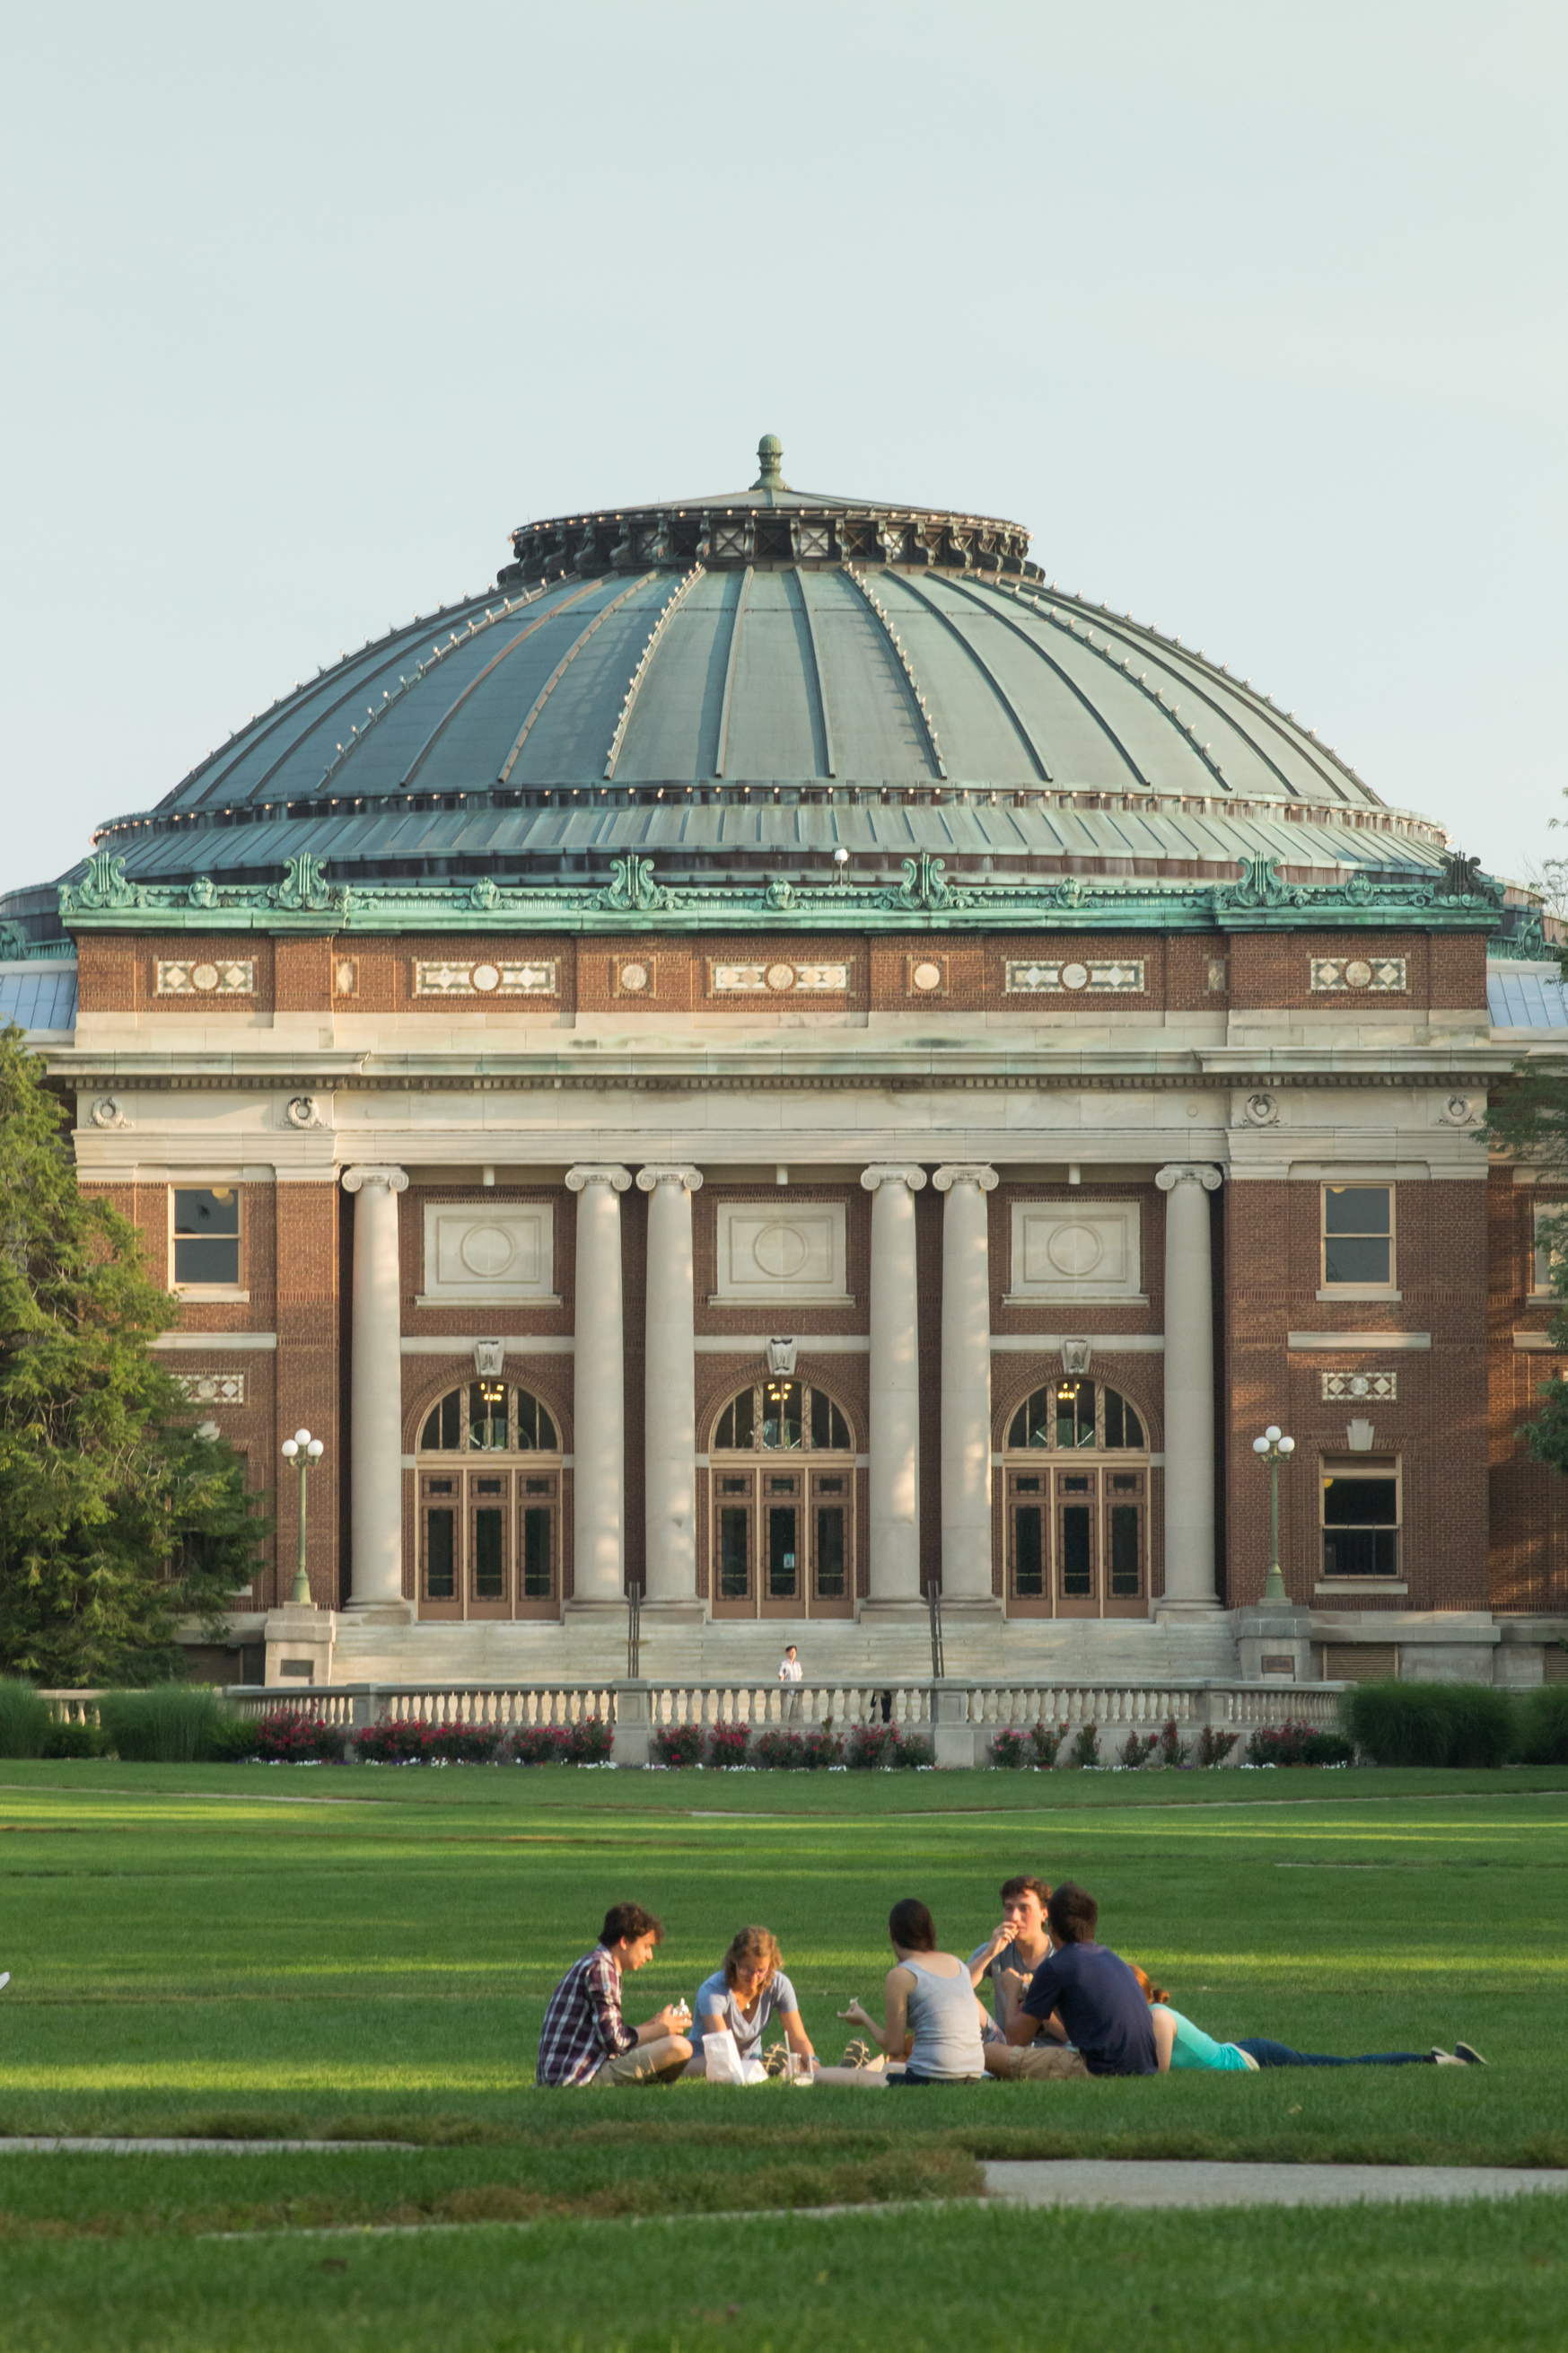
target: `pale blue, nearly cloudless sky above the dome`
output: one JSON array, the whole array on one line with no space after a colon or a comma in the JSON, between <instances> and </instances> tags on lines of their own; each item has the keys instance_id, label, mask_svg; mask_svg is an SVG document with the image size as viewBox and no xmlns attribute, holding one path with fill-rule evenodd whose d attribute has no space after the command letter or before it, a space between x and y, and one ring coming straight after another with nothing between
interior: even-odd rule
<instances>
[{"instance_id":1,"label":"pale blue, nearly cloudless sky above the dome","mask_svg":"<svg viewBox=\"0 0 1568 2353\"><path fill-rule=\"evenodd\" d=\"M1016 515L1500 871L1563 762L1561 5L24 7L0 887L529 515ZM1568 807L1563 807L1568 816Z\"/></svg>"}]
</instances>

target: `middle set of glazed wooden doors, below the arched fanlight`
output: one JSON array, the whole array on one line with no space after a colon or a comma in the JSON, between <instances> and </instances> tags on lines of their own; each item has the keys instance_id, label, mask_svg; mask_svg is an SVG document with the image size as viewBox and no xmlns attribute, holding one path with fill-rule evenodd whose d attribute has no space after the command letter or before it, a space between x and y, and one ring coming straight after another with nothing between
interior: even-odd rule
<instances>
[{"instance_id":1,"label":"middle set of glazed wooden doors, below the arched fanlight","mask_svg":"<svg viewBox=\"0 0 1568 2353\"><path fill-rule=\"evenodd\" d=\"M856 1614L853 1464L715 1464L715 1617Z\"/></svg>"}]
</instances>

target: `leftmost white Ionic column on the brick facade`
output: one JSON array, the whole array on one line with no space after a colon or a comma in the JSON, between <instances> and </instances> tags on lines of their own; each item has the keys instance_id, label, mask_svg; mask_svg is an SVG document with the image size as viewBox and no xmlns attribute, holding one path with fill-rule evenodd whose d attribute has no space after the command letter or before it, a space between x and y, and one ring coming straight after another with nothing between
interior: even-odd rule
<instances>
[{"instance_id":1,"label":"leftmost white Ionic column on the brick facade","mask_svg":"<svg viewBox=\"0 0 1568 2353\"><path fill-rule=\"evenodd\" d=\"M407 1169L343 1169L355 1195L348 1607L402 1607L402 1282Z\"/></svg>"}]
</instances>

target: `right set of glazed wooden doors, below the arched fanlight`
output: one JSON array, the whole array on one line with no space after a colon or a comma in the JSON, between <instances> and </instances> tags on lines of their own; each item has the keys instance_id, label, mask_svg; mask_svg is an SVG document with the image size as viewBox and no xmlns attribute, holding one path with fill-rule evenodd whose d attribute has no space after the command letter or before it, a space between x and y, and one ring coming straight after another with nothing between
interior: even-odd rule
<instances>
[{"instance_id":1,"label":"right set of glazed wooden doors, below the arched fanlight","mask_svg":"<svg viewBox=\"0 0 1568 2353\"><path fill-rule=\"evenodd\" d=\"M1147 1464L1009 1466L1006 1605L1013 1617L1145 1617Z\"/></svg>"}]
</instances>

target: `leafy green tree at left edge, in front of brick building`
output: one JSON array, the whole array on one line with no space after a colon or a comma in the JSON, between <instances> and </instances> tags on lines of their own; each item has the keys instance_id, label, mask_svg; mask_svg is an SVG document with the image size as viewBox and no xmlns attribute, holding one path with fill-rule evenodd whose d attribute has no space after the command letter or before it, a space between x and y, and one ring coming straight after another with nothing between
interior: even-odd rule
<instances>
[{"instance_id":1,"label":"leafy green tree at left edge, in front of brick building","mask_svg":"<svg viewBox=\"0 0 1568 2353\"><path fill-rule=\"evenodd\" d=\"M0 1031L0 1673L42 1685L181 1673L268 1522L148 1344L179 1322L141 1238L82 1198L61 1104Z\"/></svg>"}]
</instances>

